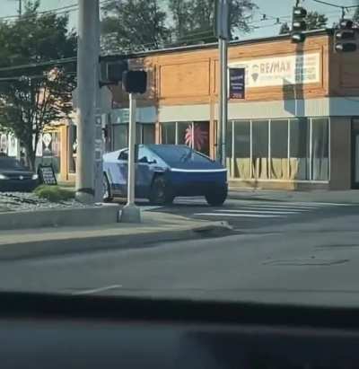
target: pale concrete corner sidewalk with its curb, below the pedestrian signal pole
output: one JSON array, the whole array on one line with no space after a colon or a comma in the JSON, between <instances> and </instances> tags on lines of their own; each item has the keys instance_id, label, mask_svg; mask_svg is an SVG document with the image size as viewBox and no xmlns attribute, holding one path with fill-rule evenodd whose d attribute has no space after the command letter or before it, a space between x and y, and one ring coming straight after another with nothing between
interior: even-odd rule
<instances>
[{"instance_id":1,"label":"pale concrete corner sidewalk with its curb, below the pedestrian signal pole","mask_svg":"<svg viewBox=\"0 0 359 369\"><path fill-rule=\"evenodd\" d=\"M225 222L197 221L179 215L143 212L142 224L0 231L0 259L144 248L158 242L230 233L231 227Z\"/></svg>"}]
</instances>

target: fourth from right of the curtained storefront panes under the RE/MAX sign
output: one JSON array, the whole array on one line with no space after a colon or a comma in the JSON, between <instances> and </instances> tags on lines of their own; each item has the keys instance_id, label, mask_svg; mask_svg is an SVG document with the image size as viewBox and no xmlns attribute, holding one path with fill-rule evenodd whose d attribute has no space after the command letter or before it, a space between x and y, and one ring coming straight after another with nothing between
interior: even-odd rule
<instances>
[{"instance_id":1,"label":"fourth from right of the curtained storefront panes under the RE/MAX sign","mask_svg":"<svg viewBox=\"0 0 359 369\"><path fill-rule=\"evenodd\" d=\"M252 121L252 165L256 180L268 179L268 121Z\"/></svg>"}]
</instances>

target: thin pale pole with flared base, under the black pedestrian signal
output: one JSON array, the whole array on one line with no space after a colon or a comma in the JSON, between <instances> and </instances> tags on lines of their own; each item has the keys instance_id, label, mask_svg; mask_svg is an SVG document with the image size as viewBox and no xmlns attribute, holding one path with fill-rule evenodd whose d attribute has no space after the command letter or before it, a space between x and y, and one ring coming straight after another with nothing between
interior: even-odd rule
<instances>
[{"instance_id":1,"label":"thin pale pole with flared base, under the black pedestrian signal","mask_svg":"<svg viewBox=\"0 0 359 369\"><path fill-rule=\"evenodd\" d=\"M136 171L136 97L129 94L129 127L128 127L128 176L127 205L121 212L121 222L141 223L141 211L135 204L135 171Z\"/></svg>"}]
</instances>

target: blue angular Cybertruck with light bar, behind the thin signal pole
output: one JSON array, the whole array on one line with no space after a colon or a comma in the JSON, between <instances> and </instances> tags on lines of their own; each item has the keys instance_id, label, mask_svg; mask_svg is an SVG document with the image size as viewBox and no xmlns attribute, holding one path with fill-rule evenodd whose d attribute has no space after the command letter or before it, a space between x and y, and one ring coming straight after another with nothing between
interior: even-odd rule
<instances>
[{"instance_id":1,"label":"blue angular Cybertruck with light bar, behind the thin signal pole","mask_svg":"<svg viewBox=\"0 0 359 369\"><path fill-rule=\"evenodd\" d=\"M128 150L103 155L104 200L127 195ZM209 205L227 198L227 171L185 145L139 145L136 154L136 198L171 204L176 196L204 196Z\"/></svg>"}]
</instances>

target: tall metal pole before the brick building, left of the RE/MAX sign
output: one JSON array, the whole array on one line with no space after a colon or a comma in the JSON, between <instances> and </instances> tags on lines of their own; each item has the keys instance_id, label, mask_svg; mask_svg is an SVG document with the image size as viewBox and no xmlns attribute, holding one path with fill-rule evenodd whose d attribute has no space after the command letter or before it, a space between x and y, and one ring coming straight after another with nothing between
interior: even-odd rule
<instances>
[{"instance_id":1,"label":"tall metal pole before the brick building, left of the RE/MAX sign","mask_svg":"<svg viewBox=\"0 0 359 369\"><path fill-rule=\"evenodd\" d=\"M216 0L216 27L219 51L219 104L218 104L218 136L217 157L223 166L226 166L226 132L228 121L228 40L230 38L229 26L229 2L230 0Z\"/></svg>"}]
</instances>

